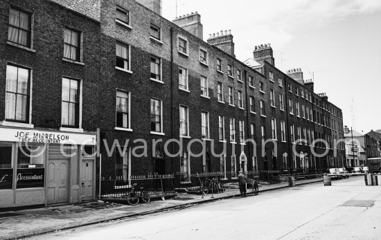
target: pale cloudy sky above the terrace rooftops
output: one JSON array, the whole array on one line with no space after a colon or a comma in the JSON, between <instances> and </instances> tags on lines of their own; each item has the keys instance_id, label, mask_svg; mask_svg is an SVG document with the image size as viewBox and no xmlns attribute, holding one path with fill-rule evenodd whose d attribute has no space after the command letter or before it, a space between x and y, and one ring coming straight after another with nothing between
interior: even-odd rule
<instances>
[{"instance_id":1,"label":"pale cloudy sky above the terrace rooftops","mask_svg":"<svg viewBox=\"0 0 381 240\"><path fill-rule=\"evenodd\" d=\"M177 5L177 8L176 8ZM236 57L271 44L275 66L301 68L344 125L381 129L381 0L163 0L163 17L197 11L209 34L231 30Z\"/></svg>"}]
</instances>

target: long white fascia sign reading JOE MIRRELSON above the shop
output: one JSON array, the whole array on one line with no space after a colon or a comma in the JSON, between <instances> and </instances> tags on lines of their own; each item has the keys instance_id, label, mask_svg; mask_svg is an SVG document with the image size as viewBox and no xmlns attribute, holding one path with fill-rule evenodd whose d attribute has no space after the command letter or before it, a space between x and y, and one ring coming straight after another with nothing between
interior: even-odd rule
<instances>
[{"instance_id":1,"label":"long white fascia sign reading JOE MIRRELSON above the shop","mask_svg":"<svg viewBox=\"0 0 381 240\"><path fill-rule=\"evenodd\" d=\"M0 127L0 141L96 145L96 134L35 131Z\"/></svg>"}]
</instances>

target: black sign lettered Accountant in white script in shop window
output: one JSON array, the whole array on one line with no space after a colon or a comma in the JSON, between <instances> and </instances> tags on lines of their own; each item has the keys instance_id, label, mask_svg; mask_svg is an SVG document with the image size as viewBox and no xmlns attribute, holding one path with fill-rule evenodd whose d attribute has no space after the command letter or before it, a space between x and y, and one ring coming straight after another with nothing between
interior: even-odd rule
<instances>
[{"instance_id":1,"label":"black sign lettered Accountant in white script in shop window","mask_svg":"<svg viewBox=\"0 0 381 240\"><path fill-rule=\"evenodd\" d=\"M44 168L17 169L17 188L44 187Z\"/></svg>"}]
</instances>

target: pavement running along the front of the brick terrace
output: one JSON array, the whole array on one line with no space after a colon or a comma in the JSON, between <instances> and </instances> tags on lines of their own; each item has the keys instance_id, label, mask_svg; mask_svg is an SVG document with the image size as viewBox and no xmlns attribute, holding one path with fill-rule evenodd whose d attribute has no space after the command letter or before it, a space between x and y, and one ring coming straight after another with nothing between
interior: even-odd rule
<instances>
[{"instance_id":1,"label":"pavement running along the front of the brick terrace","mask_svg":"<svg viewBox=\"0 0 381 240\"><path fill-rule=\"evenodd\" d=\"M296 181L296 185L316 182L321 182L323 185L323 178L299 180ZM288 183L262 185L258 196L254 197L260 198L261 192L287 187ZM182 209L219 199L239 197L237 194L239 194L238 190L227 189L223 193L214 194L214 198L211 198L211 194L206 196L178 194L176 198L166 201L151 201L148 204L139 203L139 205L135 206L96 201L76 205L53 205L30 210L0 212L0 239L21 239L96 223Z\"/></svg>"}]
</instances>

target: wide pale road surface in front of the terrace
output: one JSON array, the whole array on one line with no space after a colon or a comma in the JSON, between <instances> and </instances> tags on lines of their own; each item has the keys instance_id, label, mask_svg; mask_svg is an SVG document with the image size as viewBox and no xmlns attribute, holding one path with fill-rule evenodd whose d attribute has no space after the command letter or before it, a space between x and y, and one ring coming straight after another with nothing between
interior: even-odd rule
<instances>
[{"instance_id":1,"label":"wide pale road surface in front of the terrace","mask_svg":"<svg viewBox=\"0 0 381 240\"><path fill-rule=\"evenodd\" d=\"M31 239L381 239L381 186L353 177Z\"/></svg>"}]
</instances>

